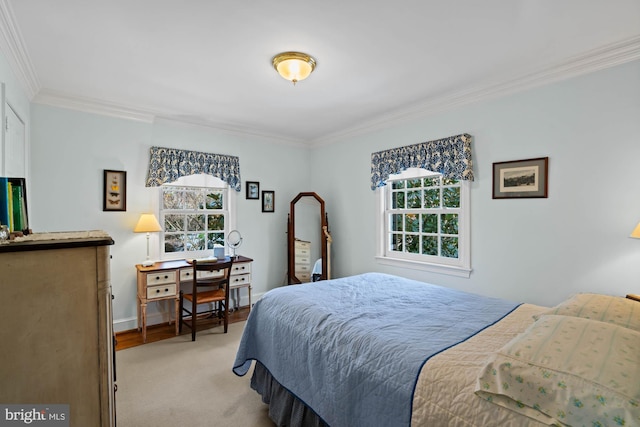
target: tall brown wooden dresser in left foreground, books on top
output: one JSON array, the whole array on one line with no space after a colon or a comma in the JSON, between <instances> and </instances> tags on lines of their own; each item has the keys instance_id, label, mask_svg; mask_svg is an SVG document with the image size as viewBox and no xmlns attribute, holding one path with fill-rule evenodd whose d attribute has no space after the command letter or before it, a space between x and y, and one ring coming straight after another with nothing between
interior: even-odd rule
<instances>
[{"instance_id":1,"label":"tall brown wooden dresser in left foreground, books on top","mask_svg":"<svg viewBox=\"0 0 640 427\"><path fill-rule=\"evenodd\" d=\"M114 426L113 240L56 234L0 244L0 402L65 404L71 426Z\"/></svg>"}]
</instances>

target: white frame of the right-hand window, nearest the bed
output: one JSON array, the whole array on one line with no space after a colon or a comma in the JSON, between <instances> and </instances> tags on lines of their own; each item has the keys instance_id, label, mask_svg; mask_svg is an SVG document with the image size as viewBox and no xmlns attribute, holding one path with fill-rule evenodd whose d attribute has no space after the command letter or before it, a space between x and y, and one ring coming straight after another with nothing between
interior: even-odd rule
<instances>
[{"instance_id":1,"label":"white frame of the right-hand window, nearest the bed","mask_svg":"<svg viewBox=\"0 0 640 427\"><path fill-rule=\"evenodd\" d=\"M411 268L426 272L446 274L456 277L468 278L471 275L471 183L460 181L460 208L458 211L458 258L446 258L440 256L407 254L391 251L389 244L391 221L387 206L391 203L391 181L413 178L439 176L437 172L426 169L409 168L399 174L391 175L387 185L378 187L376 192L376 255L379 264L401 268ZM419 210L417 212L421 212Z\"/></svg>"}]
</instances>

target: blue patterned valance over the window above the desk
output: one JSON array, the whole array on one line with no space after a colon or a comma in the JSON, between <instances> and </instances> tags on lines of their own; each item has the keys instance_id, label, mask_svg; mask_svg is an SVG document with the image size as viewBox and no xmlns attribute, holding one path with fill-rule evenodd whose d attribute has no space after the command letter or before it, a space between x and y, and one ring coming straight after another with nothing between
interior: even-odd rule
<instances>
[{"instance_id":1,"label":"blue patterned valance over the window above the desk","mask_svg":"<svg viewBox=\"0 0 640 427\"><path fill-rule=\"evenodd\" d=\"M159 187L201 173L220 178L236 191L242 190L238 157L162 147L151 147L146 186Z\"/></svg>"}]
</instances>

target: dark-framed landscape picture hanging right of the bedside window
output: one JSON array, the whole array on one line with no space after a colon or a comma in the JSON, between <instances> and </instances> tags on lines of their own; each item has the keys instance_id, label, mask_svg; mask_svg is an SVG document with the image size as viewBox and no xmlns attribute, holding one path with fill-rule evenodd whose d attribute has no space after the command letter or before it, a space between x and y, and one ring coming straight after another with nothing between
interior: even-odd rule
<instances>
[{"instance_id":1,"label":"dark-framed landscape picture hanging right of the bedside window","mask_svg":"<svg viewBox=\"0 0 640 427\"><path fill-rule=\"evenodd\" d=\"M493 198L546 198L548 157L493 164Z\"/></svg>"}]
</instances>

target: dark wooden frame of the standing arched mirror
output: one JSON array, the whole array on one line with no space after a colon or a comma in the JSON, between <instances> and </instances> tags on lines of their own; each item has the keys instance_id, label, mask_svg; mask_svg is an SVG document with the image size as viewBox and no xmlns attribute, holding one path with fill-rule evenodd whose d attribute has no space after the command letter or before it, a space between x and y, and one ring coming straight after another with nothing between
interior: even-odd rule
<instances>
[{"instance_id":1,"label":"dark wooden frame of the standing arched mirror","mask_svg":"<svg viewBox=\"0 0 640 427\"><path fill-rule=\"evenodd\" d=\"M322 275L320 276L320 280L327 280L330 278L330 266L329 266L329 257L328 257L328 245L327 243L331 242L331 236L329 235L329 223L327 219L327 213L324 210L324 200L320 196L318 196L314 192L303 192L299 193L293 200L291 200L291 208L289 212L289 219L287 224L287 239L288 239L288 268L287 268L287 278L288 284L299 284L303 283L296 277L295 274L295 265L296 265L296 254L295 254L295 215L296 215L296 203L300 201L303 197L313 197L318 203L320 203L320 236L323 238L321 241L320 254L322 258Z\"/></svg>"}]
</instances>

